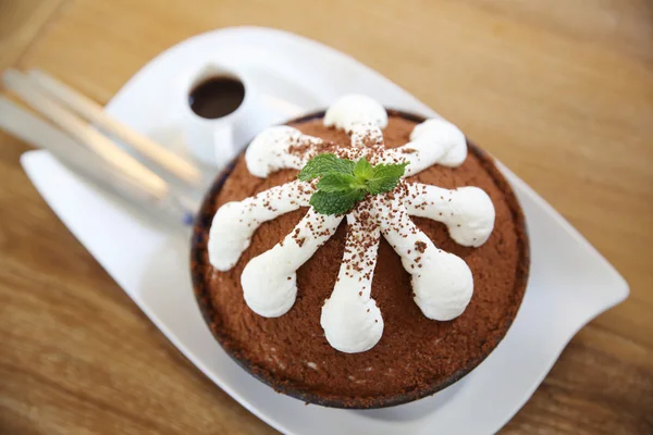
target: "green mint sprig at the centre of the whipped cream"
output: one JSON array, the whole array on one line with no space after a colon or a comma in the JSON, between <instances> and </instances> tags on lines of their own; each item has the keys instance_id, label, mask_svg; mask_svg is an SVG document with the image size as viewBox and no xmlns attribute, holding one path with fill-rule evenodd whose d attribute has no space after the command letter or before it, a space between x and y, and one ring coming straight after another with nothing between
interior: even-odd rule
<instances>
[{"instance_id":1,"label":"green mint sprig at the centre of the whipped cream","mask_svg":"<svg viewBox=\"0 0 653 435\"><path fill-rule=\"evenodd\" d=\"M297 177L304 182L320 178L309 202L318 213L343 214L368 194L379 195L394 189L407 164L381 163L372 166L366 158L354 162L328 153L310 159Z\"/></svg>"}]
</instances>

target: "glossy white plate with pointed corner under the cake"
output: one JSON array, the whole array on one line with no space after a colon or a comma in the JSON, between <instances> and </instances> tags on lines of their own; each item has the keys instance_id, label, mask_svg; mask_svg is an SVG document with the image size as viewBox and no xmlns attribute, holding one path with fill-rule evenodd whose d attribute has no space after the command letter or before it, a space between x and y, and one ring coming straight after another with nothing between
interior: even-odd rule
<instances>
[{"instance_id":1,"label":"glossy white plate with pointed corner under the cake","mask_svg":"<svg viewBox=\"0 0 653 435\"><path fill-rule=\"evenodd\" d=\"M178 86L193 65L207 59L248 70L267 104L266 124L324 108L353 91L386 107L435 115L352 58L257 27L211 32L167 50L107 110L178 146ZM234 399L288 434L495 433L532 395L576 332L628 295L628 285L605 259L502 166L523 207L532 249L526 297L506 338L471 374L433 397L382 410L306 407L249 376L215 343L195 302L183 237L84 183L45 151L27 152L22 162L58 216L163 334Z\"/></svg>"}]
</instances>

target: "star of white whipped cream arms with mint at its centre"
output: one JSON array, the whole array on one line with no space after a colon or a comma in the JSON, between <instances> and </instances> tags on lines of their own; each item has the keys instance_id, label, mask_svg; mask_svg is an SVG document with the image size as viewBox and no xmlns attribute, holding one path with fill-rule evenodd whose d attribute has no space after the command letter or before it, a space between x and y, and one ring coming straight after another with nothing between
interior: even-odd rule
<instances>
[{"instance_id":1,"label":"star of white whipped cream arms with mint at its centre","mask_svg":"<svg viewBox=\"0 0 653 435\"><path fill-rule=\"evenodd\" d=\"M211 264L232 269L261 223L308 207L283 240L245 265L241 285L252 311L267 318L285 314L297 295L296 271L346 219L341 269L320 318L332 347L362 352L381 339L383 318L371 298L381 236L402 258L423 315L448 321L461 314L473 291L471 271L463 259L439 249L410 216L442 222L456 243L478 247L494 226L492 201L477 187L449 190L405 178L433 164L463 164L463 133L432 119L414 128L408 144L386 149L386 112L362 96L338 100L326 111L324 124L345 129L350 144L325 142L289 126L268 128L254 139L245 154L251 174L267 177L296 169L298 179L223 204L209 234Z\"/></svg>"}]
</instances>

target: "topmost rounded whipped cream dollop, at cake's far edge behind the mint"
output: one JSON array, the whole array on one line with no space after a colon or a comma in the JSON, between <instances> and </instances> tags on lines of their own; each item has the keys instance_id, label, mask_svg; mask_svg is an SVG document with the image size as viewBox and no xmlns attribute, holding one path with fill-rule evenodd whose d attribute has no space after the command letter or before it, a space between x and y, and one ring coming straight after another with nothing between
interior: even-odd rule
<instances>
[{"instance_id":1,"label":"topmost rounded whipped cream dollop, at cake's far edge behind the mint","mask_svg":"<svg viewBox=\"0 0 653 435\"><path fill-rule=\"evenodd\" d=\"M387 112L379 102L364 95L341 97L326 110L324 125L335 126L345 132L352 130L356 123L372 123L380 128L387 126Z\"/></svg>"}]
</instances>

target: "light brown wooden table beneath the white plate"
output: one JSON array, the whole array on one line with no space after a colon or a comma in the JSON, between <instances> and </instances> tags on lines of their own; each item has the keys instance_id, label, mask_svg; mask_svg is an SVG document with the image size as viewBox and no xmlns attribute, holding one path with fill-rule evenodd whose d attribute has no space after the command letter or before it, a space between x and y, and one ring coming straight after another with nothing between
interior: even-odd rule
<instances>
[{"instance_id":1,"label":"light brown wooden table beneath the white plate","mask_svg":"<svg viewBox=\"0 0 653 435\"><path fill-rule=\"evenodd\" d=\"M194 34L279 27L380 71L512 167L626 276L504 428L653 433L650 0L0 0L0 69L100 102ZM272 433L181 357L57 220L0 133L0 433ZM555 273L555 271L552 271Z\"/></svg>"}]
</instances>

